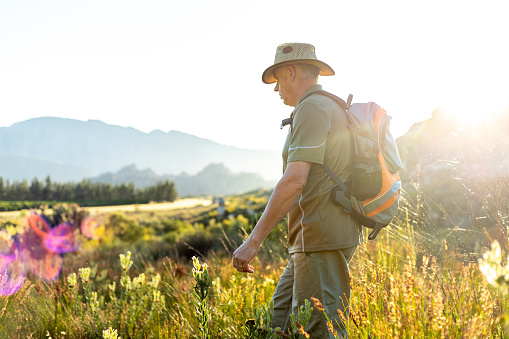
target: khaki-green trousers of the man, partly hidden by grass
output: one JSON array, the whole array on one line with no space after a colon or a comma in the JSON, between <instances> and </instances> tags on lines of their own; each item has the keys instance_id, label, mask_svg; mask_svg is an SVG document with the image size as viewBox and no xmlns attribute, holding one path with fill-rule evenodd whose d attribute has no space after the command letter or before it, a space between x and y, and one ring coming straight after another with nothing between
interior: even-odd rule
<instances>
[{"instance_id":1,"label":"khaki-green trousers of the man, partly hidden by grass","mask_svg":"<svg viewBox=\"0 0 509 339\"><path fill-rule=\"evenodd\" d=\"M315 297L324 305L338 336L347 338L345 324L337 310L344 312L348 319L350 304L348 263L356 249L357 246L332 251L290 254L288 264L272 297L274 301L272 328L279 327L286 331L291 327L290 315L297 314L298 308L304 305L304 300L309 300L313 305L310 298ZM306 332L310 334L310 338L334 338L327 329L323 311L315 307Z\"/></svg>"}]
</instances>

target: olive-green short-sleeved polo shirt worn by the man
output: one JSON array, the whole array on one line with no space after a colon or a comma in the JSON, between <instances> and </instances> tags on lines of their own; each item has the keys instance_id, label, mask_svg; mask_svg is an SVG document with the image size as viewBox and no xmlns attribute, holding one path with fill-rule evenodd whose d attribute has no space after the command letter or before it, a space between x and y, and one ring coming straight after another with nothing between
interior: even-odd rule
<instances>
[{"instance_id":1,"label":"olive-green short-sleeved polo shirt worn by the man","mask_svg":"<svg viewBox=\"0 0 509 339\"><path fill-rule=\"evenodd\" d=\"M321 89L320 85L311 86L302 97ZM292 117L283 149L283 170L291 161L312 165L306 186L288 213L290 253L358 245L362 241L360 226L330 201L330 191L336 184L322 168L325 163L343 182L350 179L353 153L346 112L332 99L312 95L299 101Z\"/></svg>"}]
</instances>

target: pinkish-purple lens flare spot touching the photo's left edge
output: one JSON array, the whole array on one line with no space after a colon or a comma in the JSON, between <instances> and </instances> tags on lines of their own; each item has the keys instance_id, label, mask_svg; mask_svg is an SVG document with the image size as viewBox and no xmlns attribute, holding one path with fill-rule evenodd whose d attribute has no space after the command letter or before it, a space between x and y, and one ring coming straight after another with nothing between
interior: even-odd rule
<instances>
[{"instance_id":1,"label":"pinkish-purple lens flare spot touching the photo's left edge","mask_svg":"<svg viewBox=\"0 0 509 339\"><path fill-rule=\"evenodd\" d=\"M19 291L25 282L25 265L18 246L3 231L0 231L0 296L9 296Z\"/></svg>"}]
</instances>

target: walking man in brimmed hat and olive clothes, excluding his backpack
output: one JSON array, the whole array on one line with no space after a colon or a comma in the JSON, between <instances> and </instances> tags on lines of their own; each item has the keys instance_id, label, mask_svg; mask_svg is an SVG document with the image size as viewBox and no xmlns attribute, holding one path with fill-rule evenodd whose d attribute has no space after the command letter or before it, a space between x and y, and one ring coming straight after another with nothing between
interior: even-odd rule
<instances>
[{"instance_id":1,"label":"walking man in brimmed hat and olive clothes, excluding his backpack","mask_svg":"<svg viewBox=\"0 0 509 339\"><path fill-rule=\"evenodd\" d=\"M338 310L348 312L348 262L362 233L353 217L329 199L335 183L322 164L347 182L353 153L346 112L326 96L308 96L321 90L318 75L334 75L334 70L316 59L312 45L301 43L278 46L274 65L262 75L264 83L276 83L274 91L295 109L283 149L283 177L232 261L239 272L252 273L249 263L262 241L288 213L290 257L274 292L272 326L288 329L290 315L304 300L315 297L323 303L334 330L346 337ZM312 338L333 338L323 312L317 308L306 331Z\"/></svg>"}]
</instances>

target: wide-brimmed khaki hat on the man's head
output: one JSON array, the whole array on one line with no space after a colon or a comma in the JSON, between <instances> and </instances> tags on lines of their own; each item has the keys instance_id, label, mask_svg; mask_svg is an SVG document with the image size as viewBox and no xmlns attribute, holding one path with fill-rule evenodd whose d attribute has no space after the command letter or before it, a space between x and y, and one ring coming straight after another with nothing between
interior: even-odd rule
<instances>
[{"instance_id":1,"label":"wide-brimmed khaki hat on the man's head","mask_svg":"<svg viewBox=\"0 0 509 339\"><path fill-rule=\"evenodd\" d=\"M315 47L310 44L288 43L277 46L274 65L267 68L262 74L262 81L266 84L273 84L274 70L281 66L309 64L320 69L320 75L334 75L332 67L316 58Z\"/></svg>"}]
</instances>

